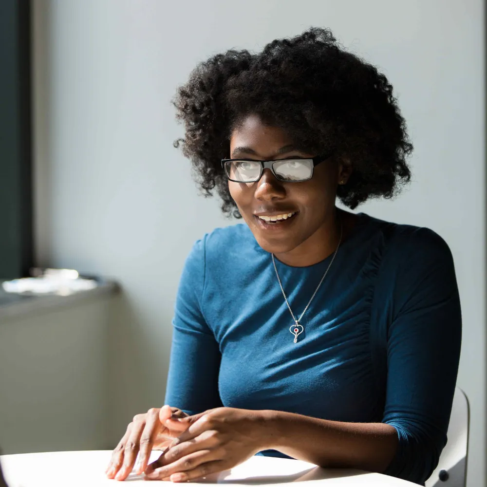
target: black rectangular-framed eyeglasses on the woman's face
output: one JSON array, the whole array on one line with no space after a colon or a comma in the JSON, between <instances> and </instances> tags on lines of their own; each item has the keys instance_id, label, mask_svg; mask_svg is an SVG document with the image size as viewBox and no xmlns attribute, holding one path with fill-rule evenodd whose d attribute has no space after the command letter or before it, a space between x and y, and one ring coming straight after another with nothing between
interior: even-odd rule
<instances>
[{"instance_id":1,"label":"black rectangular-framed eyeglasses on the woman's face","mask_svg":"<svg viewBox=\"0 0 487 487\"><path fill-rule=\"evenodd\" d=\"M332 154L318 155L309 159L280 159L274 161L254 161L252 159L223 159L222 167L226 177L235 183L259 181L264 169L270 169L279 181L297 183L313 176L313 168Z\"/></svg>"}]
</instances>

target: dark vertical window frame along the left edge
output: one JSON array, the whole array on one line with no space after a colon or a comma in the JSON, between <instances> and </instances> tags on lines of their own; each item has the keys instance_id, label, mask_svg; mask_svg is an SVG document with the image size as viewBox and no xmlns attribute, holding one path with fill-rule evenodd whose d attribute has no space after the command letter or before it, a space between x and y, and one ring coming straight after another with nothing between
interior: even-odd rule
<instances>
[{"instance_id":1,"label":"dark vertical window frame along the left edge","mask_svg":"<svg viewBox=\"0 0 487 487\"><path fill-rule=\"evenodd\" d=\"M0 1L0 279L34 264L31 1Z\"/></svg>"}]
</instances>

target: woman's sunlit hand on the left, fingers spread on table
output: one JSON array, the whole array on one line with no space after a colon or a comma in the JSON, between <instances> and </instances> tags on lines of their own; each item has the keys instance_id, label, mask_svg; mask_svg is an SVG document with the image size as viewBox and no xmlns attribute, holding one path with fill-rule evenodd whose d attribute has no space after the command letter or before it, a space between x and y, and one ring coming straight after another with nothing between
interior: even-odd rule
<instances>
[{"instance_id":1,"label":"woman's sunlit hand on the left, fingers spread on table","mask_svg":"<svg viewBox=\"0 0 487 487\"><path fill-rule=\"evenodd\" d=\"M152 408L145 414L137 414L127 427L123 438L113 450L110 463L105 470L107 477L125 480L132 471L139 454L136 472L142 473L149 462L152 450L164 450L189 426L177 421L166 423L170 417L185 418L187 414L180 409L163 406Z\"/></svg>"}]
</instances>

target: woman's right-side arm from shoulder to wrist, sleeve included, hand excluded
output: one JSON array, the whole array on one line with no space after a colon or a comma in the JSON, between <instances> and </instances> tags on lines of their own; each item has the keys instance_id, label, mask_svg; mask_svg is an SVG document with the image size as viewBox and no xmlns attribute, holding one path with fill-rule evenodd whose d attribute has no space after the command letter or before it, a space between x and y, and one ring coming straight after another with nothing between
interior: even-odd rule
<instances>
[{"instance_id":1,"label":"woman's right-side arm from shoulder to wrist, sleeve included, hand excluded","mask_svg":"<svg viewBox=\"0 0 487 487\"><path fill-rule=\"evenodd\" d=\"M415 230L383 262L380 312L388 313L382 423L340 423L265 412L271 447L321 466L354 467L423 483L436 468L450 420L461 312L448 245Z\"/></svg>"}]
</instances>

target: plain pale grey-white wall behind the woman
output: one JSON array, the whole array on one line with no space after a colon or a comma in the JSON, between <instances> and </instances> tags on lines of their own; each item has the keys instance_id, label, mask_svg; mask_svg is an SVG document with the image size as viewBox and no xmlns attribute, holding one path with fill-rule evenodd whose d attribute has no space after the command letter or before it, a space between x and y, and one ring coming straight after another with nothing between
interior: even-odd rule
<instances>
[{"instance_id":1,"label":"plain pale grey-white wall behind the woman","mask_svg":"<svg viewBox=\"0 0 487 487\"><path fill-rule=\"evenodd\" d=\"M111 328L111 438L161 404L176 285L194 240L230 222L197 196L169 104L207 56L328 26L393 83L415 145L401 198L361 208L453 251L471 401L469 486L485 484L484 39L481 0L36 0L37 257L125 288ZM171 181L169 182L169 178Z\"/></svg>"}]
</instances>

